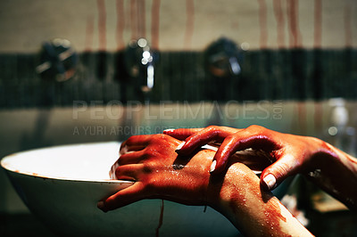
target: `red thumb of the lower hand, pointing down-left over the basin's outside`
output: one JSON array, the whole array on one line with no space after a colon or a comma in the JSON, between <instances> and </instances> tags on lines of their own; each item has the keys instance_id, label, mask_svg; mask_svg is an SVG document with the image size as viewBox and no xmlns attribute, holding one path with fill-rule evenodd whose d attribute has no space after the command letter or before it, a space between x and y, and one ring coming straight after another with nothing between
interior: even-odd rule
<instances>
[{"instance_id":1,"label":"red thumb of the lower hand, pointing down-left over the basin's outside","mask_svg":"<svg viewBox=\"0 0 357 237\"><path fill-rule=\"evenodd\" d=\"M107 212L109 210L124 207L138 200L143 200L144 197L144 184L137 182L128 188L116 192L109 198L99 201L97 207L104 212Z\"/></svg>"}]
</instances>

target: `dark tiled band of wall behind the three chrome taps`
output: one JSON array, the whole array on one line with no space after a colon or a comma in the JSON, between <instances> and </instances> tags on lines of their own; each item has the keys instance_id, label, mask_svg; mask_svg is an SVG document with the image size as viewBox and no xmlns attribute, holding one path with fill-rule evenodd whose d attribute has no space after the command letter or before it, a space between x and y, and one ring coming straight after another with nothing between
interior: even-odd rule
<instances>
[{"instance_id":1,"label":"dark tiled band of wall behind the three chrome taps","mask_svg":"<svg viewBox=\"0 0 357 237\"><path fill-rule=\"evenodd\" d=\"M73 101L305 100L357 98L357 50L264 50L243 53L236 77L213 78L202 52L159 53L146 97L119 53L80 53L74 78L36 73L37 54L0 54L0 107L71 106Z\"/></svg>"}]
</instances>

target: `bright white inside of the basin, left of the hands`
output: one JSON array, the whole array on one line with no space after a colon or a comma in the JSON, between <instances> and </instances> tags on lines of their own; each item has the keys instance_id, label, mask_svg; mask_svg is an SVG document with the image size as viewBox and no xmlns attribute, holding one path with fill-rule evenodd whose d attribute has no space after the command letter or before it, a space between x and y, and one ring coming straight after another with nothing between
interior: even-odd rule
<instances>
[{"instance_id":1,"label":"bright white inside of the basin, left of the hands","mask_svg":"<svg viewBox=\"0 0 357 237\"><path fill-rule=\"evenodd\" d=\"M18 152L2 159L1 165L30 176L110 181L109 170L119 158L119 149L118 142L63 145Z\"/></svg>"}]
</instances>

